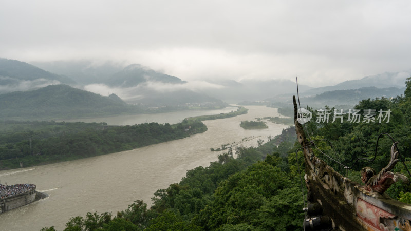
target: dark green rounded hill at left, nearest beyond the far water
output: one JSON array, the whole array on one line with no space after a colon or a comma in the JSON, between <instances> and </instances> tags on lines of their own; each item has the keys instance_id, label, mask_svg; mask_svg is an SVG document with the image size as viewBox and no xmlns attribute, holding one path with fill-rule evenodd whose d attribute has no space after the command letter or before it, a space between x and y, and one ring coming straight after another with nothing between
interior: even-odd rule
<instances>
[{"instance_id":1,"label":"dark green rounded hill at left, nearest beyond the far water","mask_svg":"<svg viewBox=\"0 0 411 231\"><path fill-rule=\"evenodd\" d=\"M127 105L115 94L103 97L68 85L0 94L0 108L2 119L13 120L57 120L139 111L138 107Z\"/></svg>"}]
</instances>

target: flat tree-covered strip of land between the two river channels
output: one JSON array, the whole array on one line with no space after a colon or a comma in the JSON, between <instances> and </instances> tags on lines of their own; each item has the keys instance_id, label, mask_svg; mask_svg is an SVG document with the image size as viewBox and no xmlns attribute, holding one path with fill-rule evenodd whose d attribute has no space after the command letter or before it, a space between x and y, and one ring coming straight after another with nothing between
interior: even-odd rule
<instances>
[{"instance_id":1,"label":"flat tree-covered strip of land between the two river channels","mask_svg":"<svg viewBox=\"0 0 411 231\"><path fill-rule=\"evenodd\" d=\"M233 117L237 111L192 117L177 124L38 121L0 122L0 170L70 161L182 139L207 130L201 121Z\"/></svg>"}]
</instances>

